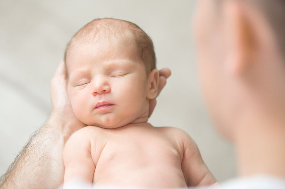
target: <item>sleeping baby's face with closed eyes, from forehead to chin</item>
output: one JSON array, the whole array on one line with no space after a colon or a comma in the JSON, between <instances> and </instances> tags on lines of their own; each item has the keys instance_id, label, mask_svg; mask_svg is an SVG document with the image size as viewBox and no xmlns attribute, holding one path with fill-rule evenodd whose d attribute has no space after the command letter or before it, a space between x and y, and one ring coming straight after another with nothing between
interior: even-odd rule
<instances>
[{"instance_id":1,"label":"sleeping baby's face with closed eyes, from forehead to chin","mask_svg":"<svg viewBox=\"0 0 285 189\"><path fill-rule=\"evenodd\" d=\"M68 96L87 125L117 128L148 114L148 77L135 45L100 41L76 45L66 58Z\"/></svg>"}]
</instances>

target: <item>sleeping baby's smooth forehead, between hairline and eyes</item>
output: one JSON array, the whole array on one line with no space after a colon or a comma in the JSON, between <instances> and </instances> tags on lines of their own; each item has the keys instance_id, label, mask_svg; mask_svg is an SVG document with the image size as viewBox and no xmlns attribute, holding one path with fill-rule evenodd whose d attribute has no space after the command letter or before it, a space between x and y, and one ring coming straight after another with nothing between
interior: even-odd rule
<instances>
[{"instance_id":1,"label":"sleeping baby's smooth forehead, between hairline and eyes","mask_svg":"<svg viewBox=\"0 0 285 189\"><path fill-rule=\"evenodd\" d=\"M77 43L66 57L68 72L82 70L85 67L103 65L106 69L130 68L134 64L144 64L137 51L136 44L114 39L96 43Z\"/></svg>"}]
</instances>

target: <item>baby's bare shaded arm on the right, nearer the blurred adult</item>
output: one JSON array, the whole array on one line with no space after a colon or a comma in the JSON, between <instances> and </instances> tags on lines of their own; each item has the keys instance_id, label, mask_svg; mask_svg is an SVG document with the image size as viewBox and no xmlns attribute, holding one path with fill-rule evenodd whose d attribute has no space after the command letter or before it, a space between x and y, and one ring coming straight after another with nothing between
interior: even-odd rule
<instances>
[{"instance_id":1,"label":"baby's bare shaded arm on the right, nearer the blurred adult","mask_svg":"<svg viewBox=\"0 0 285 189\"><path fill-rule=\"evenodd\" d=\"M183 159L181 168L187 186L207 186L217 184L208 167L205 165L198 146L194 140L184 132L183 135Z\"/></svg>"}]
</instances>

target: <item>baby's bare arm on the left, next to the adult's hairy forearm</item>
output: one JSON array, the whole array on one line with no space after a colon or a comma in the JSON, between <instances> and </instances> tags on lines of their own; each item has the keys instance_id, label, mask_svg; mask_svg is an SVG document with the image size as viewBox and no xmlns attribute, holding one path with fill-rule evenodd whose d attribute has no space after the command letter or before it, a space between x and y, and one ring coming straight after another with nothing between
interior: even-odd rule
<instances>
[{"instance_id":1,"label":"baby's bare arm on the left, next to the adult's hairy forearm","mask_svg":"<svg viewBox=\"0 0 285 189\"><path fill-rule=\"evenodd\" d=\"M91 158L91 144L86 129L76 131L66 142L63 153L64 182L75 179L92 183L95 165ZM88 134L87 134L88 135Z\"/></svg>"}]
</instances>

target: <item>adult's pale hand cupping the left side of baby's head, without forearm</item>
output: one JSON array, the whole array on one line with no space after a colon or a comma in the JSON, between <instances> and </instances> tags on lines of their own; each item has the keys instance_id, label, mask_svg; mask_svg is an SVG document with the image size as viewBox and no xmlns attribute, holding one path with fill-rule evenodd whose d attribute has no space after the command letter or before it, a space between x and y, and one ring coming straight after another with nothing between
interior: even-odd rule
<instances>
[{"instance_id":1,"label":"adult's pale hand cupping the left side of baby's head, without forearm","mask_svg":"<svg viewBox=\"0 0 285 189\"><path fill-rule=\"evenodd\" d=\"M67 95L66 86L66 70L64 61L62 60L50 81L52 113L50 115L48 124L58 125L58 122L62 122L65 125L68 125L71 132L75 132L86 125L75 117Z\"/></svg>"}]
</instances>

